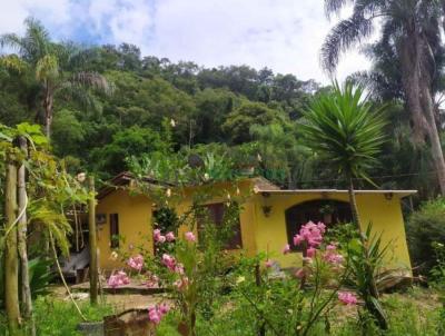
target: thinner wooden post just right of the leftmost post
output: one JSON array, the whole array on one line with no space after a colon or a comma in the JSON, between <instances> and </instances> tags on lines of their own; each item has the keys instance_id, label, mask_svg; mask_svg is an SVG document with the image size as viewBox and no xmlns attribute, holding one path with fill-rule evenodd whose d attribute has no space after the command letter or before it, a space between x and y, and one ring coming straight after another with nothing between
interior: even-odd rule
<instances>
[{"instance_id":1,"label":"thinner wooden post just right of the leftmost post","mask_svg":"<svg viewBox=\"0 0 445 336\"><path fill-rule=\"evenodd\" d=\"M24 154L24 157L28 157L28 144L24 137L19 137L19 146ZM26 318L29 327L30 334L36 335L36 326L32 319L32 299L31 299L31 287L29 279L29 265L28 265L28 251L27 251L27 189L26 189L26 168L23 162L20 165L18 169L18 205L19 205L19 214L21 217L18 221L18 250L20 256L20 275L21 275L21 299L23 307L23 317Z\"/></svg>"}]
</instances>

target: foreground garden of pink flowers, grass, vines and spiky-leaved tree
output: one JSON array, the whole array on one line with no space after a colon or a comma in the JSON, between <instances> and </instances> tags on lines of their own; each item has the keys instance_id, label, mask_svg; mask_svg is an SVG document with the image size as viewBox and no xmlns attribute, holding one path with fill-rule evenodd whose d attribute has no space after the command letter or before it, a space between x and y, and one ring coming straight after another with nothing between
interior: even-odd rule
<instances>
[{"instance_id":1,"label":"foreground garden of pink flowers, grass, vines and spiky-leaved tree","mask_svg":"<svg viewBox=\"0 0 445 336\"><path fill-rule=\"evenodd\" d=\"M108 275L99 274L97 255L90 257L89 295L83 296L70 290L59 259L68 254L72 233L67 209L78 205L87 209L90 253L97 254L93 178L69 175L49 152L39 126L3 127L3 333L441 335L445 247L434 238L443 231L444 200L426 202L409 215L412 256L423 265L419 274L426 278L413 277L408 284L396 280L387 285L388 278L390 284L390 277L396 278L385 267L390 244L383 244L382 233L374 231L372 223L360 223L354 179L366 176L366 167L376 164L385 141L382 110L369 112L370 108L363 99L363 89L346 83L319 96L305 113L301 129L307 146L336 165L348 180L353 221L334 227L322 221L301 225L293 238L303 254L300 267L280 269L274 261L277 253L291 254L290 245L255 256L227 250L244 196L239 190L225 196L218 225L202 204L220 192L209 180L227 181L229 171L235 181L236 172L207 159L204 165L189 162L178 174L177 168L184 165L180 158L156 166L161 161L146 157L134 159L135 180L122 188L156 199L155 253L144 244L130 253L115 248L110 258L121 266ZM177 187L147 185L148 171L158 174L159 180L175 176ZM189 208L178 214L174 204L190 185L209 187L195 192ZM60 280L62 288L56 285ZM136 299L120 291L129 284L157 290L139 294L139 302L147 303L142 308L122 312L126 302ZM125 314L128 317L122 319Z\"/></svg>"}]
</instances>

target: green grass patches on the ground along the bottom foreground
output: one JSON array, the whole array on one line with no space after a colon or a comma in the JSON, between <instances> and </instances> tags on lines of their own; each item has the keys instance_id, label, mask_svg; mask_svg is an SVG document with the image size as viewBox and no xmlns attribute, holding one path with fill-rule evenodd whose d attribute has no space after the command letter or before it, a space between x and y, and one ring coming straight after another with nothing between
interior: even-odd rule
<instances>
[{"instance_id":1,"label":"green grass patches on the ground along the bottom foreground","mask_svg":"<svg viewBox=\"0 0 445 336\"><path fill-rule=\"evenodd\" d=\"M148 299L148 298L147 298ZM437 294L433 290L414 288L403 294L385 295L383 298L385 309L389 316L389 329L380 332L368 328L367 336L436 336L439 335L441 304ZM91 307L88 303L80 304L82 313L88 320L101 320L110 315L113 308L110 305ZM77 325L81 322L76 308L70 302L52 296L40 297L34 302L37 334L44 336L75 336ZM248 320L246 320L248 319ZM355 336L360 335L357 312L354 307L339 306L330 316L330 334L325 330L325 325L319 324L313 336ZM179 336L177 332L178 316L174 313L160 324L158 336ZM4 316L0 315L0 335L6 332ZM247 316L231 315L229 310L219 314L212 319L211 325L198 322L199 336L251 336L255 335L253 319ZM267 334L267 336L274 336ZM286 335L284 335L286 336Z\"/></svg>"}]
</instances>

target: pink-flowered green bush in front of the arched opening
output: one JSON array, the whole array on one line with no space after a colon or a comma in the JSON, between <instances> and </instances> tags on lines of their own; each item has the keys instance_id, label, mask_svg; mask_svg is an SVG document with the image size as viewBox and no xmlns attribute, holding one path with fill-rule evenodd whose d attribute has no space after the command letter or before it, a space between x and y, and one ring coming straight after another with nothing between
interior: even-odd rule
<instances>
[{"instance_id":1,"label":"pink-flowered green bush in front of the arched opening","mask_svg":"<svg viewBox=\"0 0 445 336\"><path fill-rule=\"evenodd\" d=\"M309 221L295 235L293 243L301 247L304 265L294 274L277 273L279 265L270 253L261 268L246 259L249 266L235 281L235 306L246 320L255 316L255 334L308 335L319 324L328 324L336 305L357 304L354 293L340 290L348 274L347 258L335 241L325 241L326 229L323 223ZM281 253L290 254L290 246Z\"/></svg>"}]
</instances>

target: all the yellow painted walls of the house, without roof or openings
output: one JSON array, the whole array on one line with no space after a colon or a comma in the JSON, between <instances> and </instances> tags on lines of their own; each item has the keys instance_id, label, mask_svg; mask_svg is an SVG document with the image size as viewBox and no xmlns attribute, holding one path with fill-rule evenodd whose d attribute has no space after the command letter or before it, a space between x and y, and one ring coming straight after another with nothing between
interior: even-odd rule
<instances>
[{"instance_id":1,"label":"all the yellow painted walls of the house, without roof or openings","mask_svg":"<svg viewBox=\"0 0 445 336\"><path fill-rule=\"evenodd\" d=\"M246 197L241 205L240 224L243 248L247 255L255 255L258 251L266 251L271 259L277 260L281 267L296 267L301 265L300 254L281 254L283 247L287 244L286 234L286 209L314 199L336 199L347 201L347 194L299 194L299 195L270 195L267 200L261 195L251 195L251 184L240 182L240 192ZM191 205L191 195L196 188L186 189L184 198L176 206L178 214L184 214ZM236 187L228 184L214 186L215 192L211 200L218 202L226 201L227 194L235 196ZM219 194L219 195L217 195ZM250 195L250 196L248 196ZM267 202L271 206L271 213L266 217L261 207ZM363 224L373 221L375 233L383 234L384 243L392 241L392 258L388 259L390 267L409 267L409 256L406 245L404 223L402 217L399 199L394 196L387 200L384 194L357 195L357 205ZM152 251L152 229L151 229L151 200L144 196L130 196L125 190L117 190L106 196L99 201L98 214L107 214L107 223L98 235L98 246L100 249L100 266L103 269L112 269L119 264L110 260L110 238L109 238L109 215L119 214L120 234L126 238L123 249L128 251L128 246L135 247L144 245L146 249ZM187 230L180 228L179 235Z\"/></svg>"}]
</instances>

